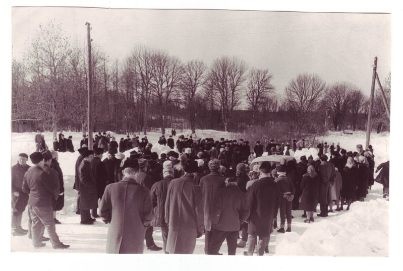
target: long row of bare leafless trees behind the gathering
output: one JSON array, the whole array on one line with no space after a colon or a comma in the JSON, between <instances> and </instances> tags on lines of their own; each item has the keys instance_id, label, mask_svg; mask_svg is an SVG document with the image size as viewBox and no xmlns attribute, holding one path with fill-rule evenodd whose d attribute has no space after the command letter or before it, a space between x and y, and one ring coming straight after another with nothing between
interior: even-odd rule
<instances>
[{"instance_id":1,"label":"long row of bare leafless trees behind the gathering","mask_svg":"<svg viewBox=\"0 0 403 271\"><path fill-rule=\"evenodd\" d=\"M24 60L13 59L13 119L41 119L43 128L54 133L85 131L85 46L68 38L54 21L39 26ZM208 118L211 128L218 128L218 116L227 131L239 124L238 112L245 104L250 114L243 120L246 125L282 121L300 133L313 115L329 110L334 129L347 124L356 129L358 116L367 110L367 98L354 85L328 86L318 75L297 76L277 99L269 70L249 69L237 57L222 56L207 66L202 60L183 63L166 51L134 46L125 59L111 61L96 44L92 47L95 130L146 133L158 126L165 133L167 127L187 121L195 132ZM390 99L390 83L385 89ZM376 110L375 116L385 121L377 103Z\"/></svg>"}]
</instances>

